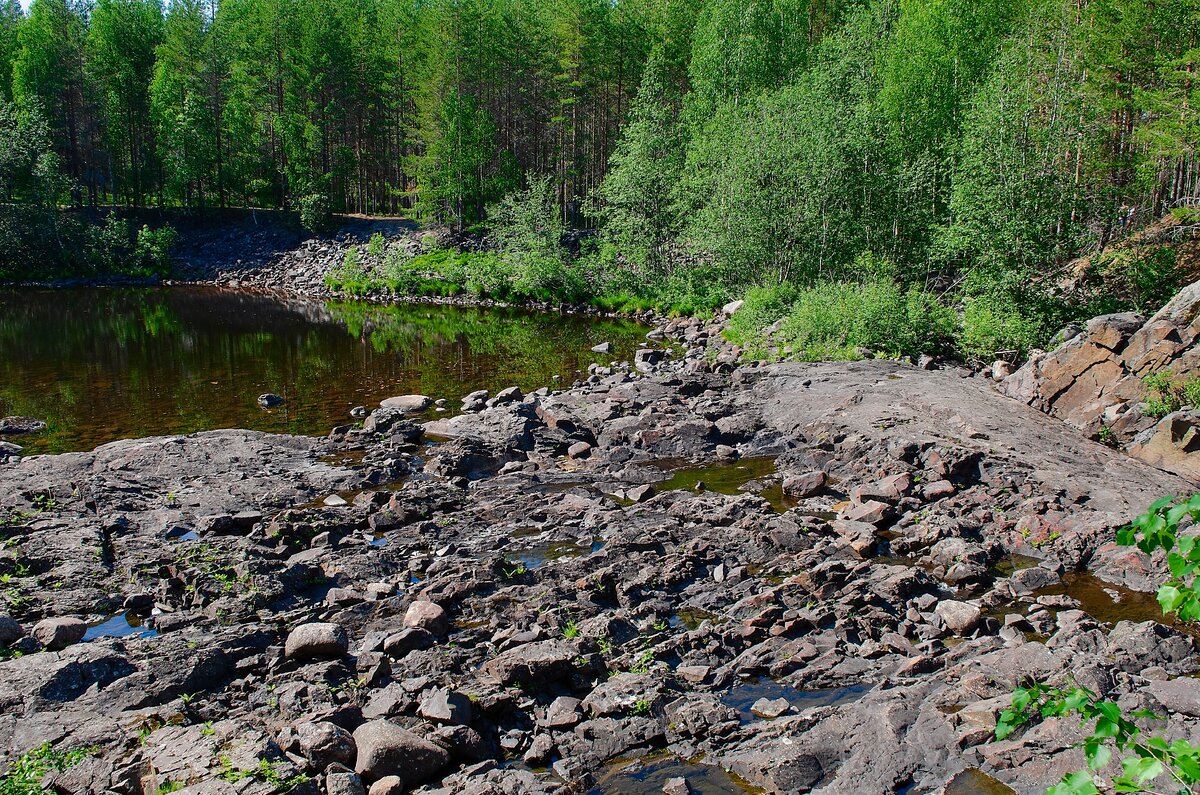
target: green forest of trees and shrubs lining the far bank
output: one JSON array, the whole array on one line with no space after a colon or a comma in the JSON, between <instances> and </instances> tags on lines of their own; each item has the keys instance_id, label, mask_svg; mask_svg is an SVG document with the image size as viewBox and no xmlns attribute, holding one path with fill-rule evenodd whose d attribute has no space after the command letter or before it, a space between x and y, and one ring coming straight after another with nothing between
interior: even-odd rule
<instances>
[{"instance_id":1,"label":"green forest of trees and shrubs lining the far bank","mask_svg":"<svg viewBox=\"0 0 1200 795\"><path fill-rule=\"evenodd\" d=\"M1019 358L1195 275L1198 64L1196 0L0 0L0 275L408 215L470 244L332 282Z\"/></svg>"}]
</instances>

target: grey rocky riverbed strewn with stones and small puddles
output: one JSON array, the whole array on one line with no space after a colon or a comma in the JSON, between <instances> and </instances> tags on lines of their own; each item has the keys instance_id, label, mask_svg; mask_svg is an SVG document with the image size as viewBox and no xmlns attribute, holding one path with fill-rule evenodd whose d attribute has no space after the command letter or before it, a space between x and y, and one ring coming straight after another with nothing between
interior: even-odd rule
<instances>
[{"instance_id":1,"label":"grey rocky riverbed strewn with stones and small puddles","mask_svg":"<svg viewBox=\"0 0 1200 795\"><path fill-rule=\"evenodd\" d=\"M1200 733L1200 657L1114 532L1190 486L894 361L673 353L0 464L0 767L56 793L1042 791L1075 719ZM18 656L19 654L19 656ZM26 757L26 760L29 758ZM41 771L40 771L41 772Z\"/></svg>"}]
</instances>

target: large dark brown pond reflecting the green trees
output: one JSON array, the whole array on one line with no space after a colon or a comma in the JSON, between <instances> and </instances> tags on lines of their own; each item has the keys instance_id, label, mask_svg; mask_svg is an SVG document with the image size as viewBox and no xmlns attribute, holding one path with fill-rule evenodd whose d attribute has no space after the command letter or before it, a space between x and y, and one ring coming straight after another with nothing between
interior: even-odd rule
<instances>
[{"instance_id":1,"label":"large dark brown pond reflecting the green trees","mask_svg":"<svg viewBox=\"0 0 1200 795\"><path fill-rule=\"evenodd\" d=\"M215 288L0 291L0 417L26 454L216 428L323 435L349 410L421 393L574 381L646 329L574 316L278 299ZM589 348L611 341L613 354ZM263 393L287 402L263 411Z\"/></svg>"}]
</instances>

